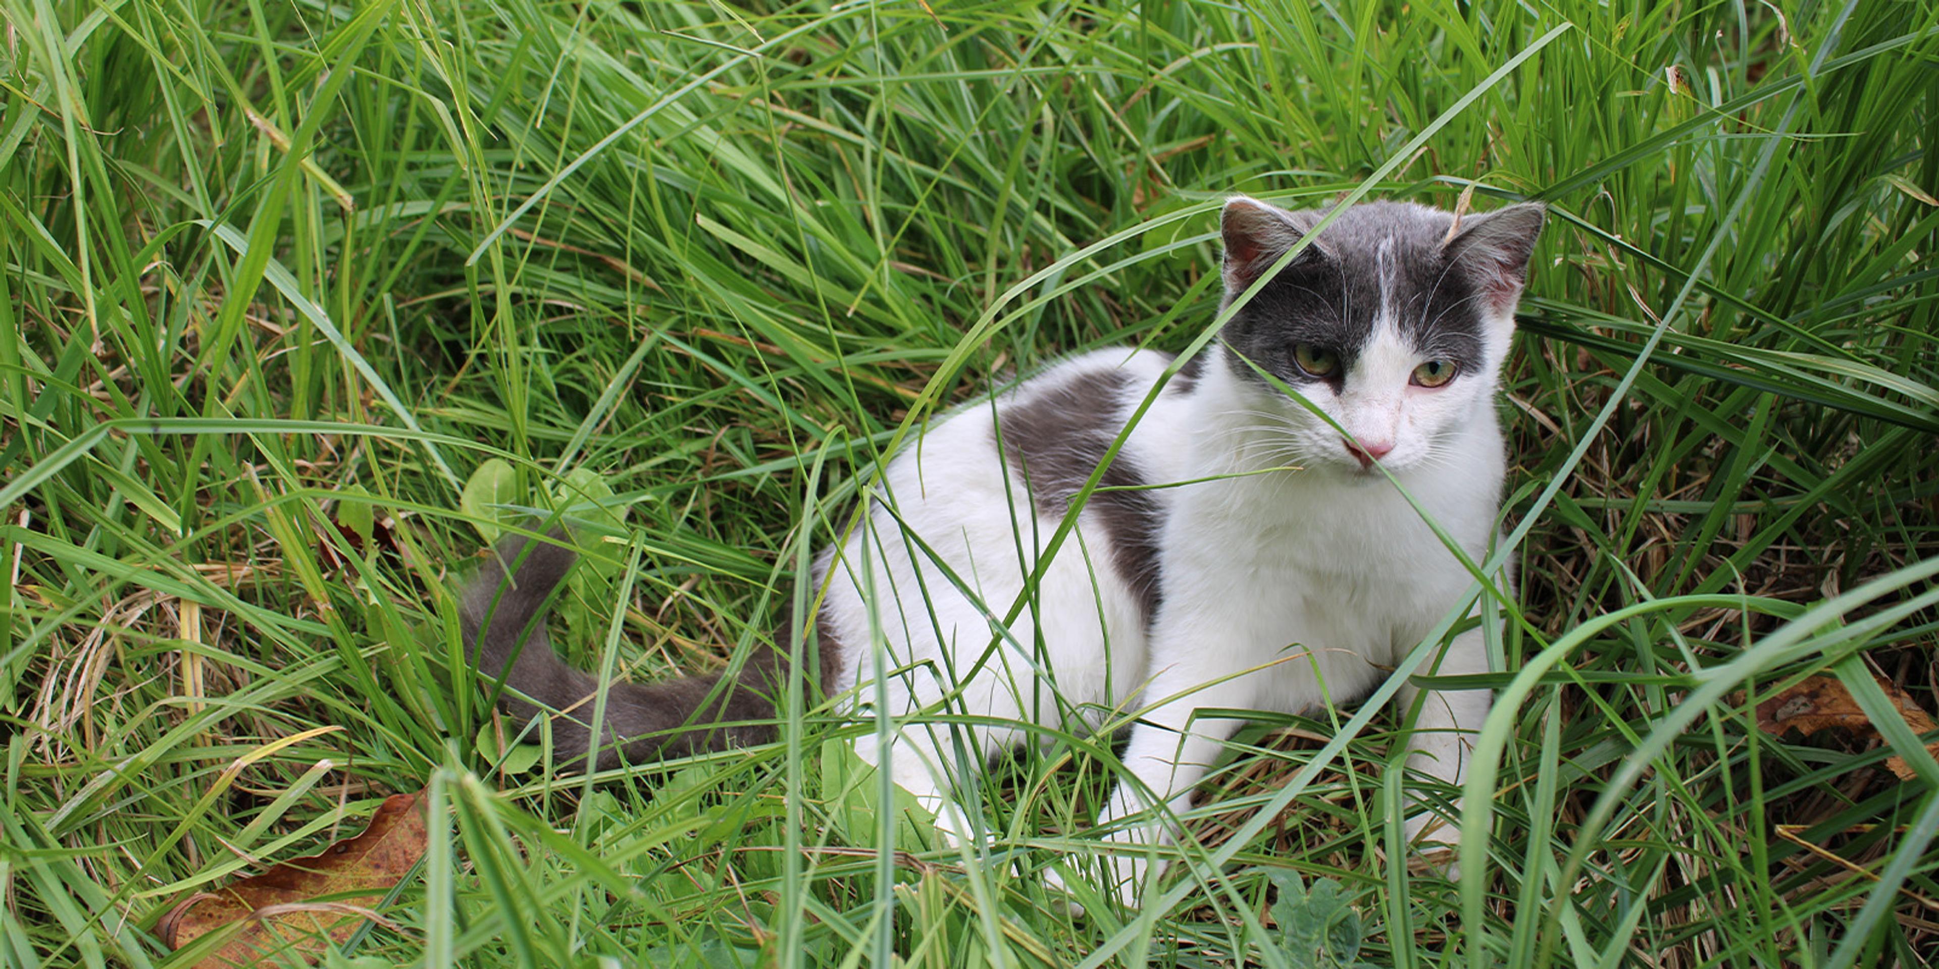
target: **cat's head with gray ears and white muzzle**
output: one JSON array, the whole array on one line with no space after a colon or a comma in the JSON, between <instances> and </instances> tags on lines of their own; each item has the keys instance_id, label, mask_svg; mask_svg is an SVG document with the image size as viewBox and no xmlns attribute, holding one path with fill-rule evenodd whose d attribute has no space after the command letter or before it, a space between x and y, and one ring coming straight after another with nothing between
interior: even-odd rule
<instances>
[{"instance_id":1,"label":"cat's head with gray ears and white muzzle","mask_svg":"<svg viewBox=\"0 0 1939 969\"><path fill-rule=\"evenodd\" d=\"M1225 202L1225 302L1245 293L1320 221L1251 198ZM1293 453L1371 473L1439 463L1448 434L1493 407L1514 335L1540 203L1454 215L1373 202L1348 207L1225 324L1225 345L1284 380L1353 440L1272 391L1245 360L1241 380L1278 397ZM1379 475L1373 475L1379 477Z\"/></svg>"}]
</instances>

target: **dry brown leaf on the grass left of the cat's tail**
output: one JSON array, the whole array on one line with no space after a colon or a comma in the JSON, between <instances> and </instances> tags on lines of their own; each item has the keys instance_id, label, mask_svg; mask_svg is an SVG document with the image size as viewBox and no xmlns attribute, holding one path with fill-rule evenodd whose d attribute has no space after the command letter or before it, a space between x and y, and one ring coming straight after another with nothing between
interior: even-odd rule
<instances>
[{"instance_id":1,"label":"dry brown leaf on the grass left of the cat's tail","mask_svg":"<svg viewBox=\"0 0 1939 969\"><path fill-rule=\"evenodd\" d=\"M343 942L365 919L376 919L345 899L374 901L425 855L421 798L423 793L392 795L361 835L217 891L190 895L155 922L155 934L171 950L180 950L209 932L246 922L196 963L198 969L258 965L271 952L314 957L324 952L326 934Z\"/></svg>"}]
</instances>

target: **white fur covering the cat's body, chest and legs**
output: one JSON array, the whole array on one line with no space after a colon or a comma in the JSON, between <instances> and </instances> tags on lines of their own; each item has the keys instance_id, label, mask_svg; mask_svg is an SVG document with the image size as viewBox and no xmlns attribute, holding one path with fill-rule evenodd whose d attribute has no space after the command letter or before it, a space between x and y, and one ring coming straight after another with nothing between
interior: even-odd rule
<instances>
[{"instance_id":1,"label":"white fur covering the cat's body, chest and legs","mask_svg":"<svg viewBox=\"0 0 1939 969\"><path fill-rule=\"evenodd\" d=\"M1324 384L1307 391L1361 442L1392 444L1381 463L1478 560L1497 529L1505 467L1493 374L1512 318L1489 326L1485 372L1425 390L1408 384L1421 353L1398 335L1394 312L1383 312L1342 393ZM853 688L861 709L894 717L892 777L950 835L975 833L975 812L950 793L1024 733L931 729L917 723L921 711L1063 727L1063 711L1076 705L1096 727L1107 711L1142 707L1125 752L1136 783L1119 783L1099 824L1115 826L1115 843L1163 841L1173 835L1163 810L1148 824L1117 822L1146 812L1154 800L1146 793L1173 812L1187 806L1237 727L1194 721L1194 709L1297 713L1351 700L1460 605L1470 576L1379 471L1361 469L1338 430L1235 374L1227 351L1206 353L1196 388L1167 388L1123 450L1152 483L1239 475L1152 492L1163 508L1154 523L1163 601L1150 632L1111 566L1111 537L1084 510L1037 587L1035 610L1010 626L1014 641L995 638L1059 519L1033 514L1020 475L1006 477L989 401L931 426L919 448L890 461L874 490L968 591L906 541L880 506L840 554L824 554L820 568L836 572L826 622L845 649L838 688ZM1088 370L1119 368L1130 378L1121 401L1128 413L1163 366L1154 353L1097 351L1032 378L999 405ZM1284 465L1303 469L1247 475ZM966 680L993 640L995 653ZM1441 663L1441 672L1485 669L1478 630L1458 636ZM1415 692L1400 696L1412 705ZM1478 729L1487 703L1487 692L1427 698L1410 766L1456 783L1468 752L1458 733ZM874 764L884 758L874 736L861 738L857 752ZM1427 824L1417 814L1408 835ZM1443 826L1427 837L1452 843L1456 835ZM1140 859L1130 851L1115 864L1127 903L1158 874Z\"/></svg>"}]
</instances>

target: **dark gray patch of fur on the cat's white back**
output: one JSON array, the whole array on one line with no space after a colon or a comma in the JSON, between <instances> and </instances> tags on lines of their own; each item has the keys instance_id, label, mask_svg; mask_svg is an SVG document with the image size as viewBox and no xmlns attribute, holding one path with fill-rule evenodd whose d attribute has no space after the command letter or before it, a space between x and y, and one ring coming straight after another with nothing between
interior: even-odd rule
<instances>
[{"instance_id":1,"label":"dark gray patch of fur on the cat's white back","mask_svg":"<svg viewBox=\"0 0 1939 969\"><path fill-rule=\"evenodd\" d=\"M1181 370L1169 388L1177 388L1181 380L1196 380L1196 370L1192 378ZM1004 461L1030 488L1039 516L1063 517L1070 500L1097 471L1125 428L1127 386L1123 372L1090 370L997 409ZM1097 481L1099 488L1144 484L1138 465L1123 450ZM1084 508L1096 514L1109 535L1111 566L1130 585L1140 616L1150 622L1160 599L1158 498L1146 490L1094 490ZM1070 554L1070 548L1059 554Z\"/></svg>"}]
</instances>

